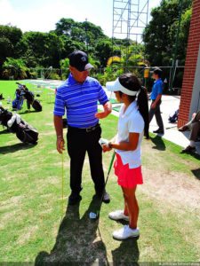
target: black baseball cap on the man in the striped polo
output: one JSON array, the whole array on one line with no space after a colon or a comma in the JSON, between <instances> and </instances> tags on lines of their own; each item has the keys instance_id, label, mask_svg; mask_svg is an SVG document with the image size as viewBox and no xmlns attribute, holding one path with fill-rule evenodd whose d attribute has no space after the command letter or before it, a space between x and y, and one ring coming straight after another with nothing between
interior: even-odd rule
<instances>
[{"instance_id":1,"label":"black baseball cap on the man in the striped polo","mask_svg":"<svg viewBox=\"0 0 200 266\"><path fill-rule=\"evenodd\" d=\"M78 71L84 71L93 66L88 62L88 56L84 51L73 51L68 56L69 65L76 67Z\"/></svg>"}]
</instances>

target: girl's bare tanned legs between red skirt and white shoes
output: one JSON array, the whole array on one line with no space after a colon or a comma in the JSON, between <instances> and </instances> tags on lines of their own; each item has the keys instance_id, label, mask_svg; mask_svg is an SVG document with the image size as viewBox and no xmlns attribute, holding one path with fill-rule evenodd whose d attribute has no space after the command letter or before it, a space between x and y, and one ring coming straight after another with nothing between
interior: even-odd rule
<instances>
[{"instance_id":1,"label":"girl's bare tanned legs between red skirt and white shoes","mask_svg":"<svg viewBox=\"0 0 200 266\"><path fill-rule=\"evenodd\" d=\"M137 185L133 188L122 187L124 193L124 215L129 215L129 227L131 229L137 228L139 206L135 196Z\"/></svg>"}]
</instances>

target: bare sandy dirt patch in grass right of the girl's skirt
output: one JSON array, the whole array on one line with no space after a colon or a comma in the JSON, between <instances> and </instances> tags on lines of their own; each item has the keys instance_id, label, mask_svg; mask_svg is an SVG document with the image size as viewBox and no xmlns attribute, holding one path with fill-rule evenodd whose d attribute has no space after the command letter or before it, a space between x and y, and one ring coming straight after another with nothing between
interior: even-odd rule
<instances>
[{"instance_id":1,"label":"bare sandy dirt patch in grass right of the girl's skirt","mask_svg":"<svg viewBox=\"0 0 200 266\"><path fill-rule=\"evenodd\" d=\"M150 198L163 200L164 205L200 209L199 181L183 173L149 170L143 166L144 184L140 191Z\"/></svg>"}]
</instances>

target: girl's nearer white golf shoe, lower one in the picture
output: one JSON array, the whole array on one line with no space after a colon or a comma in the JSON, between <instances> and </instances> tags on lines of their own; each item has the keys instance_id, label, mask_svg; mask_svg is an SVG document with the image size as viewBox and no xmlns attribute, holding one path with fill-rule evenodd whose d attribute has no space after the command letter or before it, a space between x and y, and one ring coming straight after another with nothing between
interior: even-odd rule
<instances>
[{"instance_id":1,"label":"girl's nearer white golf shoe, lower one in the picture","mask_svg":"<svg viewBox=\"0 0 200 266\"><path fill-rule=\"evenodd\" d=\"M131 229L129 225L124 225L122 229L113 232L113 238L117 240L137 238L139 236L139 228Z\"/></svg>"}]
</instances>

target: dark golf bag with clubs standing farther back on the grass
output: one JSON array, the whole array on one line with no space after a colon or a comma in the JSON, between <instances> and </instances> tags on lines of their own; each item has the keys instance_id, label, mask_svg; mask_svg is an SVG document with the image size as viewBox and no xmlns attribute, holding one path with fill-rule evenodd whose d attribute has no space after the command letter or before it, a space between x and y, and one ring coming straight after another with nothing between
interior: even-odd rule
<instances>
[{"instance_id":1,"label":"dark golf bag with clubs standing farther back on the grass","mask_svg":"<svg viewBox=\"0 0 200 266\"><path fill-rule=\"evenodd\" d=\"M30 106L32 106L36 110L36 112L41 112L43 110L43 107L40 101L35 99L34 93L28 90L26 85L20 84L19 82L16 82L16 84L18 84L17 90L20 90L20 96L27 100L28 110L30 109Z\"/></svg>"}]
</instances>

